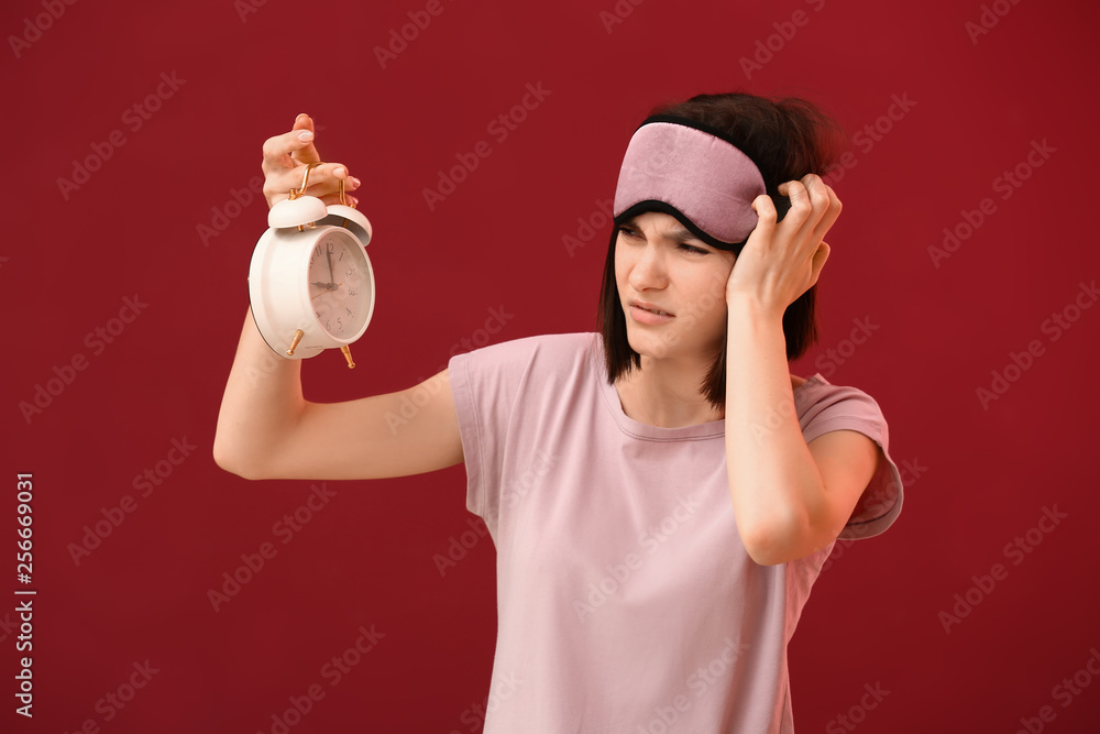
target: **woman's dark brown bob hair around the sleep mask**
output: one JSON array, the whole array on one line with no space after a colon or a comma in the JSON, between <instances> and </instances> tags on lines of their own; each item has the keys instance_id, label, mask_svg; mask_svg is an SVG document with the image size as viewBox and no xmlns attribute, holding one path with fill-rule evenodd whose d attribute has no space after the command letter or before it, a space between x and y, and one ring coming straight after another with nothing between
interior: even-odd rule
<instances>
[{"instance_id":1,"label":"woman's dark brown bob hair around the sleep mask","mask_svg":"<svg viewBox=\"0 0 1100 734\"><path fill-rule=\"evenodd\" d=\"M660 105L650 112L673 114L721 131L760 169L767 193L778 196L783 182L816 173L824 176L844 150L843 130L813 103L798 98L768 99L746 92L696 95L684 102ZM618 226L612 230L604 283L596 318L603 333L608 381L641 366L641 355L630 348L626 315L615 281L615 243ZM722 248L727 249L727 248ZM739 252L740 247L728 248ZM805 353L817 341L814 304L817 286L799 296L783 313L788 361ZM726 403L726 347L715 355L700 393L715 407Z\"/></svg>"}]
</instances>

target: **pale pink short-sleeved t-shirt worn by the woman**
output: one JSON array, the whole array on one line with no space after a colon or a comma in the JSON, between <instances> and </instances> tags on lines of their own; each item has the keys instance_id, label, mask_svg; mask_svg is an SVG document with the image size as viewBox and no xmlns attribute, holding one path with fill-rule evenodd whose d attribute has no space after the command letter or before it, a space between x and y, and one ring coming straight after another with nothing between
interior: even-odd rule
<instances>
[{"instance_id":1,"label":"pale pink short-sleeved t-shirt worn by the woman","mask_svg":"<svg viewBox=\"0 0 1100 734\"><path fill-rule=\"evenodd\" d=\"M449 368L466 506L497 549L485 734L793 732L787 646L833 544L752 561L724 421L629 418L597 333L518 339ZM821 375L794 402L807 442L850 429L882 447L840 537L886 530L902 485L879 406Z\"/></svg>"}]
</instances>

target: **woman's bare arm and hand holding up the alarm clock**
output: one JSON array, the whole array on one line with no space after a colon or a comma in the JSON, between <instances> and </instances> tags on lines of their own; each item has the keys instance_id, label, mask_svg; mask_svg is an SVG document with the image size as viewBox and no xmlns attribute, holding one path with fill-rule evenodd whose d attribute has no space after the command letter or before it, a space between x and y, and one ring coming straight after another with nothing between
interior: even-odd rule
<instances>
[{"instance_id":1,"label":"woman's bare arm and hand holding up the alarm clock","mask_svg":"<svg viewBox=\"0 0 1100 734\"><path fill-rule=\"evenodd\" d=\"M270 139L268 204L286 198L300 184L301 168L319 160L306 116L290 132ZM332 204L339 179L346 177L346 167L327 163L314 169L306 193ZM301 362L272 351L249 311L218 415L218 465L248 479L322 480L404 476L462 461L446 370L403 392L322 404L304 399Z\"/></svg>"}]
</instances>

